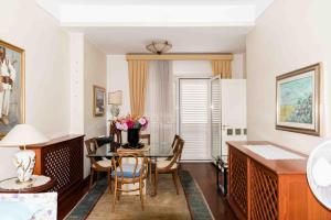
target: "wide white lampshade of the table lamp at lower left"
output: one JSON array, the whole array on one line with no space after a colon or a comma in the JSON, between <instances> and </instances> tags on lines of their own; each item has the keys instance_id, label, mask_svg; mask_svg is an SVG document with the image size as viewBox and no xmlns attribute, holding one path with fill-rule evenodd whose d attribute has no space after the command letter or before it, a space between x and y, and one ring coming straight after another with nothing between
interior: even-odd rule
<instances>
[{"instance_id":1,"label":"wide white lampshade of the table lamp at lower left","mask_svg":"<svg viewBox=\"0 0 331 220\"><path fill-rule=\"evenodd\" d=\"M0 146L25 146L42 144L49 141L50 139L32 125L18 124L0 141Z\"/></svg>"}]
</instances>

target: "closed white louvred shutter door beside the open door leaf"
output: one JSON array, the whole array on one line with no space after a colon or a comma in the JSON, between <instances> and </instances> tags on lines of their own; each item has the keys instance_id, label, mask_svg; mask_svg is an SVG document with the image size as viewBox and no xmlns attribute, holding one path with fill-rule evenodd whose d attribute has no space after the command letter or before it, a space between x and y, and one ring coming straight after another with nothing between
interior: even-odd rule
<instances>
[{"instance_id":1,"label":"closed white louvred shutter door beside the open door leaf","mask_svg":"<svg viewBox=\"0 0 331 220\"><path fill-rule=\"evenodd\" d=\"M210 160L210 79L179 79L179 133L183 161Z\"/></svg>"}]
</instances>

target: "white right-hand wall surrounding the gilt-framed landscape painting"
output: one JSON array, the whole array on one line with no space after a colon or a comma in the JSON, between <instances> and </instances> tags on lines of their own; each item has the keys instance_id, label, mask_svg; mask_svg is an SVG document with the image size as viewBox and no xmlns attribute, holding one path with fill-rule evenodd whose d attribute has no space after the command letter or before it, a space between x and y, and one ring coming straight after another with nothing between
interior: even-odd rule
<instances>
[{"instance_id":1,"label":"white right-hand wall surrounding the gilt-framed landscape painting","mask_svg":"<svg viewBox=\"0 0 331 220\"><path fill-rule=\"evenodd\" d=\"M247 36L248 139L267 140L309 153L330 139L331 1L276 0ZM323 63L322 136L275 130L276 76Z\"/></svg>"}]
</instances>

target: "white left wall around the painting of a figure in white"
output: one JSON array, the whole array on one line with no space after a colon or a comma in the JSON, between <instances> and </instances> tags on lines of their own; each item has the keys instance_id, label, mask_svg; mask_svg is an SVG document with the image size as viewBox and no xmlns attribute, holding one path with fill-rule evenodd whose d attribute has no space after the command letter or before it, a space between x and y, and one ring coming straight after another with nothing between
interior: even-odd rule
<instances>
[{"instance_id":1,"label":"white left wall around the painting of a figure in white","mask_svg":"<svg viewBox=\"0 0 331 220\"><path fill-rule=\"evenodd\" d=\"M26 123L50 138L70 130L70 38L33 0L1 0L0 38L25 50ZM0 148L0 179L17 148Z\"/></svg>"}]
</instances>

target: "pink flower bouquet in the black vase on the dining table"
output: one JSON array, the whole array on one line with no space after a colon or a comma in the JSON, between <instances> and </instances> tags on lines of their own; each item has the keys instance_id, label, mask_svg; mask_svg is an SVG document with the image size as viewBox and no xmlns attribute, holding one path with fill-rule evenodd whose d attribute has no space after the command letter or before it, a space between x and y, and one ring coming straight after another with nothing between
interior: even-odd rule
<instances>
[{"instance_id":1,"label":"pink flower bouquet in the black vase on the dining table","mask_svg":"<svg viewBox=\"0 0 331 220\"><path fill-rule=\"evenodd\" d=\"M116 128L118 130L127 131L128 129L147 129L148 120L146 117L131 117L118 118L116 120Z\"/></svg>"}]
</instances>

